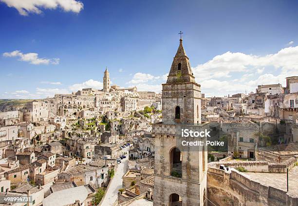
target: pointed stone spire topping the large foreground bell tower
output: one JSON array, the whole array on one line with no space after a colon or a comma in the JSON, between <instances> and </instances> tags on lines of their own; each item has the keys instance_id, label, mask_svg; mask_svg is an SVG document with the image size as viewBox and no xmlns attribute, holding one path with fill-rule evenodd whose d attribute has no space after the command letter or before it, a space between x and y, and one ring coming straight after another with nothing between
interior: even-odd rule
<instances>
[{"instance_id":1,"label":"pointed stone spire topping the large foreground bell tower","mask_svg":"<svg viewBox=\"0 0 298 206\"><path fill-rule=\"evenodd\" d=\"M167 80L167 83L179 82L195 82L191 71L189 58L186 56L186 52L183 48L182 38L180 38L180 44L173 59Z\"/></svg>"}]
</instances>

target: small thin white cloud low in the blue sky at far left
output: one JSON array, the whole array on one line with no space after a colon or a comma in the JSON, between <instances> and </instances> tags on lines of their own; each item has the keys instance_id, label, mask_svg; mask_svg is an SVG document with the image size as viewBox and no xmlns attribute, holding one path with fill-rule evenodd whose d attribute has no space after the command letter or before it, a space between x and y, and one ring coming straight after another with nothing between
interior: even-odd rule
<instances>
[{"instance_id":1,"label":"small thin white cloud low in the blue sky at far left","mask_svg":"<svg viewBox=\"0 0 298 206\"><path fill-rule=\"evenodd\" d=\"M38 58L37 53L23 54L19 50L3 53L5 57L19 57L19 61L27 61L30 64L59 64L59 58Z\"/></svg>"}]
</instances>

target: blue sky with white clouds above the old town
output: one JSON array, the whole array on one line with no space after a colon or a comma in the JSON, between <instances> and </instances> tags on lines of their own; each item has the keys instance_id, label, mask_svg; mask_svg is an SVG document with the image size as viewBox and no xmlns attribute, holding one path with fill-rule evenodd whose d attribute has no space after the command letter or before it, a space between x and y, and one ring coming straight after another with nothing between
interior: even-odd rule
<instances>
[{"instance_id":1,"label":"blue sky with white clouds above the old town","mask_svg":"<svg viewBox=\"0 0 298 206\"><path fill-rule=\"evenodd\" d=\"M0 98L161 92L183 45L205 96L298 75L297 0L0 0Z\"/></svg>"}]
</instances>

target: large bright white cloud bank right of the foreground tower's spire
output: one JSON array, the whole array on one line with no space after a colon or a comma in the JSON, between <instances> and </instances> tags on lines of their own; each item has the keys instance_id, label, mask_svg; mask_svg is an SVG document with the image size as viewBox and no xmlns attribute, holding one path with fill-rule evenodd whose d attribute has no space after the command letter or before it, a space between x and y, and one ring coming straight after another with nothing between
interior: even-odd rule
<instances>
[{"instance_id":1,"label":"large bright white cloud bank right of the foreground tower's spire","mask_svg":"<svg viewBox=\"0 0 298 206\"><path fill-rule=\"evenodd\" d=\"M266 56L246 55L226 52L215 56L204 64L192 68L197 81L212 78L228 78L234 72L262 73L263 67L274 67L281 74L298 73L298 46L281 49L276 54Z\"/></svg>"}]
</instances>

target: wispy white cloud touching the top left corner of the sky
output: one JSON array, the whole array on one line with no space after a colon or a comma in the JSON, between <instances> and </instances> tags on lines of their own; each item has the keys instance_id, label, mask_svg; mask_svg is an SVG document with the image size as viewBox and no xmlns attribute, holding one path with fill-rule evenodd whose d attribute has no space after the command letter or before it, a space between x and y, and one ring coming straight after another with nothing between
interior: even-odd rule
<instances>
[{"instance_id":1,"label":"wispy white cloud touching the top left corner of the sky","mask_svg":"<svg viewBox=\"0 0 298 206\"><path fill-rule=\"evenodd\" d=\"M66 12L79 13L84 4L78 0L0 0L8 7L14 7L20 15L27 16L28 13L40 14L40 8L56 9L61 8Z\"/></svg>"}]
</instances>

